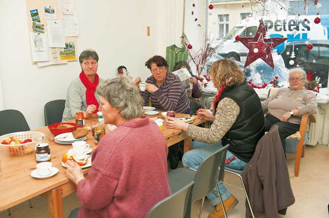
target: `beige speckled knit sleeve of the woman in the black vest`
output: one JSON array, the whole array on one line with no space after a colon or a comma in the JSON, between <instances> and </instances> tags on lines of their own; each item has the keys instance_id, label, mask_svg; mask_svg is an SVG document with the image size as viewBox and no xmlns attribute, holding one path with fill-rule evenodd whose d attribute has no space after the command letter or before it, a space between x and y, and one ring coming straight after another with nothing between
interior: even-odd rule
<instances>
[{"instance_id":1,"label":"beige speckled knit sleeve of the woman in the black vest","mask_svg":"<svg viewBox=\"0 0 329 218\"><path fill-rule=\"evenodd\" d=\"M211 128L202 128L189 125L187 135L199 142L215 144L220 141L227 131L233 126L240 107L231 98L223 98L217 106L214 123Z\"/></svg>"}]
</instances>

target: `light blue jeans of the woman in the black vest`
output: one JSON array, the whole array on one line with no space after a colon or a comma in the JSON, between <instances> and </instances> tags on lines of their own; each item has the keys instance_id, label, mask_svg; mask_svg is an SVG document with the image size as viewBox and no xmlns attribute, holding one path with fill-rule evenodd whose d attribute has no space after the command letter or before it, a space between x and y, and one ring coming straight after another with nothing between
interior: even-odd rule
<instances>
[{"instance_id":1,"label":"light blue jeans of the woman in the black vest","mask_svg":"<svg viewBox=\"0 0 329 218\"><path fill-rule=\"evenodd\" d=\"M210 154L214 153L222 147L223 145L221 141L217 142L216 144L206 144L193 141L192 150L186 152L182 158L183 165L184 167L196 170L204 158L208 157ZM231 156L233 156L233 154L230 151L227 151L226 159ZM236 170L243 170L247 164L248 162L244 162L236 157L231 162L226 163L226 166ZM221 183L218 183L218 187L223 201L228 199L231 193ZM213 206L220 203L216 187L210 194L207 195L207 198Z\"/></svg>"}]
</instances>

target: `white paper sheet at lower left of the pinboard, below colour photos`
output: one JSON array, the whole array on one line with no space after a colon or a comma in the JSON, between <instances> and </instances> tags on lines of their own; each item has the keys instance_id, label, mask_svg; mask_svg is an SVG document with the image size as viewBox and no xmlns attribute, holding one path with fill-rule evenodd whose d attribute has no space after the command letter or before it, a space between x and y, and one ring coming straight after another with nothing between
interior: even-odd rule
<instances>
[{"instance_id":1,"label":"white paper sheet at lower left of the pinboard, below colour photos","mask_svg":"<svg viewBox=\"0 0 329 218\"><path fill-rule=\"evenodd\" d=\"M49 46L47 33L30 33L32 58L34 62L49 61Z\"/></svg>"}]
</instances>

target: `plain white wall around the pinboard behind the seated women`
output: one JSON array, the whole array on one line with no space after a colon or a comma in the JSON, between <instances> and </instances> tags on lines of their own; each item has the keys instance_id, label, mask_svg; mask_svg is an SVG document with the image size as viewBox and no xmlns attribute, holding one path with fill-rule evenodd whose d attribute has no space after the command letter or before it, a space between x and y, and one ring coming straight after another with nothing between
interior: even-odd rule
<instances>
[{"instance_id":1,"label":"plain white wall around the pinboard behind the seated women","mask_svg":"<svg viewBox=\"0 0 329 218\"><path fill-rule=\"evenodd\" d=\"M202 0L194 2L201 5ZM86 48L98 52L101 78L114 77L116 68L125 65L133 78L146 80L150 72L145 61L153 55L166 57L166 46L180 41L183 0L78 0L76 4L77 53ZM196 46L204 25L195 28L191 16L186 17L187 35ZM32 64L24 0L0 0L0 18L4 109L21 111L31 129L42 127L45 103L65 99L70 81L81 71L79 63L42 68Z\"/></svg>"}]
</instances>

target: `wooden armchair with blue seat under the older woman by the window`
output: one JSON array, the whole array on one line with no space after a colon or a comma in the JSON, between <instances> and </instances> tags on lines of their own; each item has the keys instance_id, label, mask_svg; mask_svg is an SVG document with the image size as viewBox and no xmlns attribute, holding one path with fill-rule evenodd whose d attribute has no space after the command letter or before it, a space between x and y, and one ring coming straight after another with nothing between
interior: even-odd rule
<instances>
[{"instance_id":1,"label":"wooden armchair with blue seat under the older woman by the window","mask_svg":"<svg viewBox=\"0 0 329 218\"><path fill-rule=\"evenodd\" d=\"M278 89L270 89L267 97L270 97L277 90ZM299 175L301 157L305 156L305 145L309 136L309 122L315 123L314 115L309 113L303 114L299 131L285 138L285 152L295 153L295 176ZM298 135L300 135L300 137L298 137Z\"/></svg>"}]
</instances>

